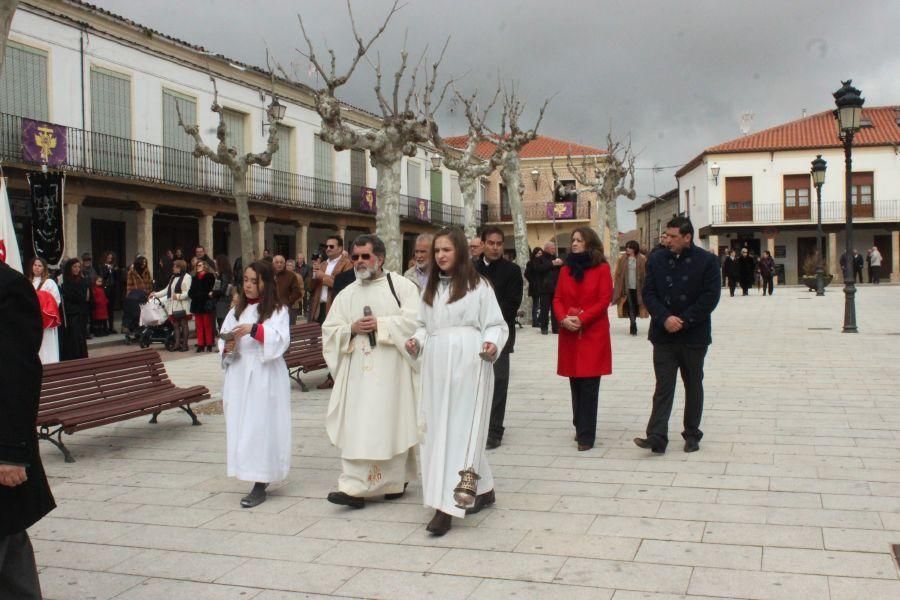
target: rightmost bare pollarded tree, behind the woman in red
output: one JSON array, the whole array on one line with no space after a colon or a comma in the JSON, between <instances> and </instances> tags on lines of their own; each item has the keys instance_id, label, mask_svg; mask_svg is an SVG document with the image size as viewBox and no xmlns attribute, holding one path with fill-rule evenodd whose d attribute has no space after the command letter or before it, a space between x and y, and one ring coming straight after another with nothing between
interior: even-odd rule
<instances>
[{"instance_id":1,"label":"rightmost bare pollarded tree, behind the woman in red","mask_svg":"<svg viewBox=\"0 0 900 600\"><path fill-rule=\"evenodd\" d=\"M566 165L575 180L597 195L598 233L604 240L607 254L619 253L618 200L624 196L634 200L634 153L631 141L613 140L612 131L606 134L606 154L600 157L582 157L576 167L572 155L566 156ZM606 237L607 229L609 237Z\"/></svg>"}]
</instances>

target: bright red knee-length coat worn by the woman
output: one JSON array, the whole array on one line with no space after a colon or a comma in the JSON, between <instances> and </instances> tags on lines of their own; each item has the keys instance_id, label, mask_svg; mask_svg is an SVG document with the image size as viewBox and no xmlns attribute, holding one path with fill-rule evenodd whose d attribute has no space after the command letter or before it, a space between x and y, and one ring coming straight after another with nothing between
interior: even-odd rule
<instances>
[{"instance_id":1,"label":"bright red knee-length coat worn by the woman","mask_svg":"<svg viewBox=\"0 0 900 600\"><path fill-rule=\"evenodd\" d=\"M582 328L571 332L559 328L559 358L556 372L563 377L599 377L612 373L612 346L609 341L609 302L612 299L612 275L602 263L585 270L581 282L575 281L569 267L559 273L553 310L562 321L578 312Z\"/></svg>"}]
</instances>

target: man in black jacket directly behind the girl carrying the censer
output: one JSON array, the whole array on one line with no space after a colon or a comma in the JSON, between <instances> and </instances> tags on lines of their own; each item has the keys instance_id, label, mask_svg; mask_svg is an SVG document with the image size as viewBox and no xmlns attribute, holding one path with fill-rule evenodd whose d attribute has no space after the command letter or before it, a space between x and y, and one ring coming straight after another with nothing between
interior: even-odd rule
<instances>
[{"instance_id":1,"label":"man in black jacket directly behind the girl carrying the censer","mask_svg":"<svg viewBox=\"0 0 900 600\"><path fill-rule=\"evenodd\" d=\"M494 398L491 402L491 421L488 426L487 448L492 450L503 440L503 417L506 415L506 392L509 389L509 355L516 344L516 313L522 304L522 269L503 258L503 230L485 227L481 232L484 251L475 269L494 286L497 304L509 327L509 339L500 357L494 362Z\"/></svg>"}]
</instances>

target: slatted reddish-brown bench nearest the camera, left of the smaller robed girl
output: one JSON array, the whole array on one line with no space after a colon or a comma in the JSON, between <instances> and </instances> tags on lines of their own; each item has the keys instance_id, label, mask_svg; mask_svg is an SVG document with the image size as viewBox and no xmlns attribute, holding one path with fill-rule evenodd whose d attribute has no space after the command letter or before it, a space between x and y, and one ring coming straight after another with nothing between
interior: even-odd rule
<instances>
[{"instance_id":1,"label":"slatted reddish-brown bench nearest the camera, left of the smaller robed girl","mask_svg":"<svg viewBox=\"0 0 900 600\"><path fill-rule=\"evenodd\" d=\"M75 462L62 434L180 408L199 425L191 404L209 398L196 385L175 387L155 350L138 350L102 358L82 358L46 365L38 406L38 437L59 448L66 462ZM54 436L56 439L54 439Z\"/></svg>"}]
</instances>

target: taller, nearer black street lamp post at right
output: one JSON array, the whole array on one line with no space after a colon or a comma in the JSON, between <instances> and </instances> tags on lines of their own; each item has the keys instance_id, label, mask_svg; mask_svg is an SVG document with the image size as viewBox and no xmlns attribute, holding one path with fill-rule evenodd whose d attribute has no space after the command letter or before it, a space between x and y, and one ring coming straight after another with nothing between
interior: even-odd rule
<instances>
[{"instance_id":1,"label":"taller, nearer black street lamp post at right","mask_svg":"<svg viewBox=\"0 0 900 600\"><path fill-rule=\"evenodd\" d=\"M865 100L861 92L850 85L851 79L842 81L841 89L834 92L837 109L838 135L844 142L845 196L846 196L846 245L844 250L844 333L857 333L856 327L856 285L853 265L853 136L859 131L862 105ZM849 275L849 277L848 277Z\"/></svg>"}]
</instances>

